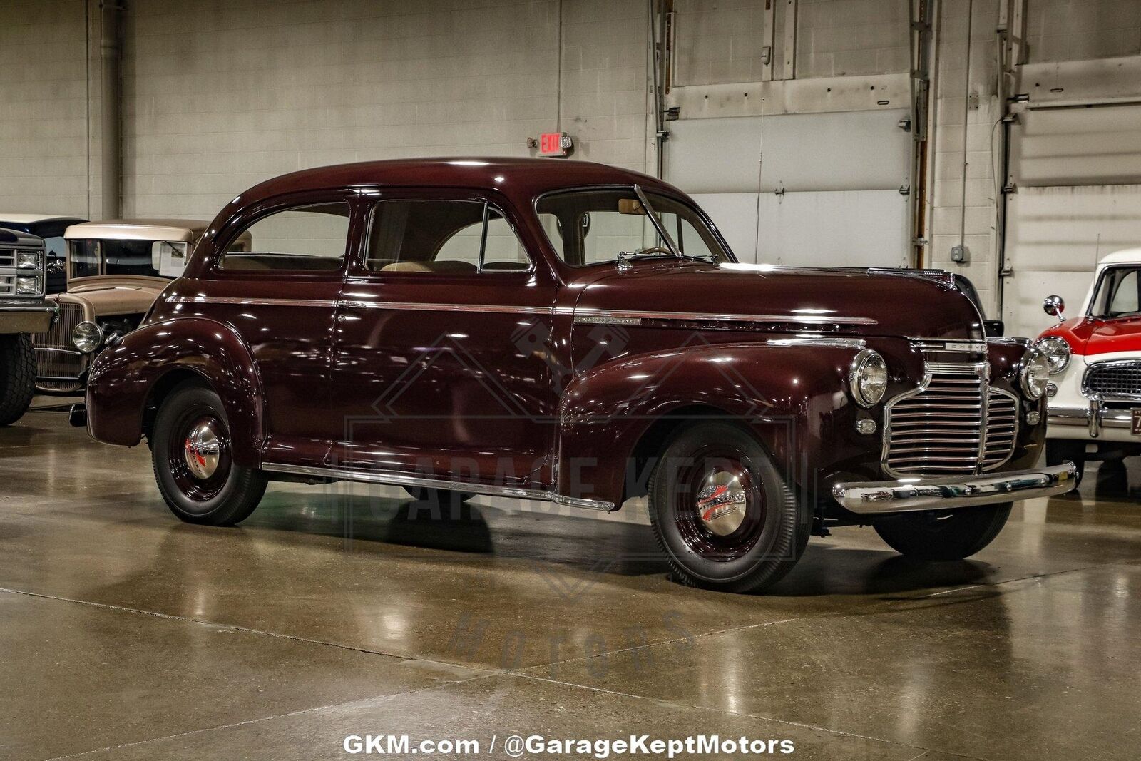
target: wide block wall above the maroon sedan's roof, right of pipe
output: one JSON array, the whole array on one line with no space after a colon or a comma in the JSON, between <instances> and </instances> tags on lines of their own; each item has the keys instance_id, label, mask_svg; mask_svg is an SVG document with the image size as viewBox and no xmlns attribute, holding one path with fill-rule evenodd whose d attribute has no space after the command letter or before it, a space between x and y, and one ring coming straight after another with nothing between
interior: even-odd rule
<instances>
[{"instance_id":1,"label":"wide block wall above the maroon sedan's roof, right of pipe","mask_svg":"<svg viewBox=\"0 0 1141 761\"><path fill-rule=\"evenodd\" d=\"M644 169L645 14L633 0L133 3L124 213L210 218L305 167L528 155L559 122L577 157Z\"/></svg>"}]
</instances>

